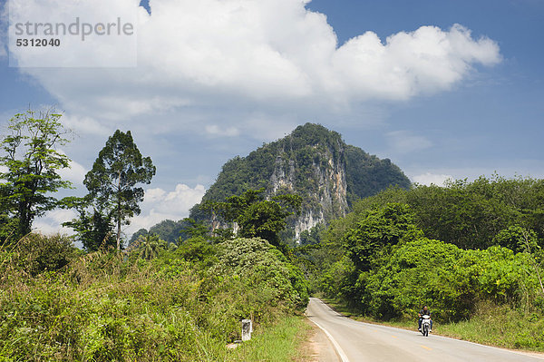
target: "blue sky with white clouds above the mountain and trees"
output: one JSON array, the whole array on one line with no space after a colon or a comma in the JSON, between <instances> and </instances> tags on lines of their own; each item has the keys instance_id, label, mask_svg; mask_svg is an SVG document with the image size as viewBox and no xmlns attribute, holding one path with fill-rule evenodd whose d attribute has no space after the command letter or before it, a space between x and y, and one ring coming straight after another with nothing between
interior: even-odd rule
<instances>
[{"instance_id":1,"label":"blue sky with white clouds above the mountain and trees","mask_svg":"<svg viewBox=\"0 0 544 362\"><path fill-rule=\"evenodd\" d=\"M75 134L63 176L79 195L108 137L131 130L157 174L127 234L187 217L226 161L305 122L421 184L544 177L544 1L67 4L0 1L0 122L61 111ZM135 32L66 37L49 53L10 43L17 21L75 16L129 19ZM54 210L34 227L73 216Z\"/></svg>"}]
</instances>

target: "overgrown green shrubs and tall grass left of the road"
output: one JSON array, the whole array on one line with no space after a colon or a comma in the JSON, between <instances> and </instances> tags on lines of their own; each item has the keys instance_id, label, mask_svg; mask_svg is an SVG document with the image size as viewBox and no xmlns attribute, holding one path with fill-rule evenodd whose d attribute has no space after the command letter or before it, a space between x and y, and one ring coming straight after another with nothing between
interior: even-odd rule
<instances>
[{"instance_id":1,"label":"overgrown green shrubs and tall grass left of the road","mask_svg":"<svg viewBox=\"0 0 544 362\"><path fill-rule=\"evenodd\" d=\"M268 356L256 348L283 343L285 338L274 331L287 333L287 328L274 324L305 304L302 276L265 240L207 245L200 244L203 254L219 256L205 257L208 263L196 261L199 252L182 246L151 260L100 250L34 276L19 264L4 262L23 258L26 250L0 250L0 359L235 361ZM226 344L240 338L241 318L253 319L256 341L229 351ZM292 348L282 347L281 353L288 356Z\"/></svg>"}]
</instances>

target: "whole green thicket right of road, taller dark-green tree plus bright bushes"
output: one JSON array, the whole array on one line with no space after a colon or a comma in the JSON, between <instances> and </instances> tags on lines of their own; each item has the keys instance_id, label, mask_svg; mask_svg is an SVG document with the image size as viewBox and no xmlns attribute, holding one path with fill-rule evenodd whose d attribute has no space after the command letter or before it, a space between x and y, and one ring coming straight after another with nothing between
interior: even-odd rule
<instances>
[{"instance_id":1,"label":"whole green thicket right of road, taller dark-green tree plus bright bushes","mask_svg":"<svg viewBox=\"0 0 544 362\"><path fill-rule=\"evenodd\" d=\"M429 240L416 227L419 217L412 207L376 206L406 194L404 200L410 200L410 191L397 189L377 202L377 197L361 202L360 209L323 233L325 255L327 250L344 249L320 262L325 295L386 320L409 320L429 305L437 321L459 321L471 318L474 306L486 300L521 308L525 314L539 310L544 302L544 258L537 233L512 225L488 242L502 247L487 249Z\"/></svg>"}]
</instances>

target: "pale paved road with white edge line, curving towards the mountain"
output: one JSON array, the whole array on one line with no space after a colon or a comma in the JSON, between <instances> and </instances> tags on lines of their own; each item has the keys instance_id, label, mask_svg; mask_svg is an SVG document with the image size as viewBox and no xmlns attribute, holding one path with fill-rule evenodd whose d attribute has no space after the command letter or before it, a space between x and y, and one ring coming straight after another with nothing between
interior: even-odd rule
<instances>
[{"instance_id":1,"label":"pale paved road with white edge line, curving towards the mountain","mask_svg":"<svg viewBox=\"0 0 544 362\"><path fill-rule=\"evenodd\" d=\"M544 357L487 347L436 335L423 337L417 330L405 330L357 322L336 313L318 298L310 298L306 316L335 345L340 360L436 361L436 362L543 362Z\"/></svg>"}]
</instances>

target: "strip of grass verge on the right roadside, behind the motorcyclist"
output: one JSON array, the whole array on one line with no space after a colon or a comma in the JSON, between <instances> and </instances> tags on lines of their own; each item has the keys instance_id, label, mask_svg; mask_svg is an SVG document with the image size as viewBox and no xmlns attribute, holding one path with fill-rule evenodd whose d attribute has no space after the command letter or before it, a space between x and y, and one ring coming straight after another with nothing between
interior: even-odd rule
<instances>
[{"instance_id":1,"label":"strip of grass verge on the right roadside, behind the motorcyclist","mask_svg":"<svg viewBox=\"0 0 544 362\"><path fill-rule=\"evenodd\" d=\"M382 321L368 318L344 302L321 298L327 305L355 320L381 324L395 328L415 330L417 319ZM456 323L437 323L432 326L433 334L467 340L482 345L544 352L544 318L537 313L523 313L509 306L481 303L475 307L475 314L469 320Z\"/></svg>"}]
</instances>

